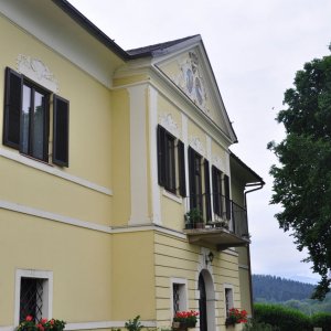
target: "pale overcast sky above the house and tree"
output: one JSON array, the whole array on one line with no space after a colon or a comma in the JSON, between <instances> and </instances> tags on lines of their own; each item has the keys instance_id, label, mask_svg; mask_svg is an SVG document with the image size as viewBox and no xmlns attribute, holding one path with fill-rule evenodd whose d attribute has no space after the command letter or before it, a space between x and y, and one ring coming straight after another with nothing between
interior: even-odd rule
<instances>
[{"instance_id":1,"label":"pale overcast sky above the house and tree","mask_svg":"<svg viewBox=\"0 0 331 331\"><path fill-rule=\"evenodd\" d=\"M125 50L201 34L226 110L238 137L231 149L264 178L248 194L252 267L255 274L312 277L270 206L276 162L266 149L280 141L275 121L284 92L305 62L329 54L330 0L70 0Z\"/></svg>"}]
</instances>

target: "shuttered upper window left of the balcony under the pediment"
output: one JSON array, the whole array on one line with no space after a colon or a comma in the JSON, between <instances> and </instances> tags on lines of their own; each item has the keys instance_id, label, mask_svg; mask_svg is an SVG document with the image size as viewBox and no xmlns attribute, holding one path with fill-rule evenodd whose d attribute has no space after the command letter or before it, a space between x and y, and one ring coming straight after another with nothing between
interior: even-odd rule
<instances>
[{"instance_id":1,"label":"shuttered upper window left of the balcony under the pediment","mask_svg":"<svg viewBox=\"0 0 331 331\"><path fill-rule=\"evenodd\" d=\"M159 184L167 191L186 195L184 145L163 127L158 126Z\"/></svg>"}]
</instances>

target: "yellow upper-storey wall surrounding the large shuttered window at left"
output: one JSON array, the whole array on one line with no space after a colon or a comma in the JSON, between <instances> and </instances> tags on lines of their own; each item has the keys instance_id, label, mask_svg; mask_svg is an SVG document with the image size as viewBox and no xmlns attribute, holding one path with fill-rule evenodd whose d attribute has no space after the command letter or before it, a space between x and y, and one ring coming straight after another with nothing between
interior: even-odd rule
<instances>
[{"instance_id":1,"label":"yellow upper-storey wall surrounding the large shuttered window at left","mask_svg":"<svg viewBox=\"0 0 331 331\"><path fill-rule=\"evenodd\" d=\"M0 94L4 92L4 68L17 70L20 54L39 58L54 74L58 95L70 100L70 167L61 171L111 190L110 92L44 44L0 17L0 39L7 46L0 57ZM0 107L3 118L3 107ZM3 126L0 126L2 136ZM108 148L107 148L108 147ZM13 154L15 149L1 146ZM40 164L39 161L36 166ZM55 178L0 157L6 170L0 199L39 210L110 225L111 196ZM33 194L31 194L33 190Z\"/></svg>"}]
</instances>

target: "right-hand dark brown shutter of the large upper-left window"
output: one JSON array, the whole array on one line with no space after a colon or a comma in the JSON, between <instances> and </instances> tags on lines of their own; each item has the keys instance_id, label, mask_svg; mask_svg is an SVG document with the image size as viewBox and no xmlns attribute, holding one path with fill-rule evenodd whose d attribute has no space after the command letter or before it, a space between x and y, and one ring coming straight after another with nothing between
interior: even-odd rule
<instances>
[{"instance_id":1,"label":"right-hand dark brown shutter of the large upper-left window","mask_svg":"<svg viewBox=\"0 0 331 331\"><path fill-rule=\"evenodd\" d=\"M53 99L53 163L68 167L68 116L70 104L54 95Z\"/></svg>"}]
</instances>

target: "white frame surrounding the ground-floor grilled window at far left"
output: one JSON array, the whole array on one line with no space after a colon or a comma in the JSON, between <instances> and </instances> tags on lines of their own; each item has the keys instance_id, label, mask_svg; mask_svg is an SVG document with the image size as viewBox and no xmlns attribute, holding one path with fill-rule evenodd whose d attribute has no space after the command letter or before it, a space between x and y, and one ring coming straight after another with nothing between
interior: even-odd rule
<instances>
[{"instance_id":1,"label":"white frame surrounding the ground-floor grilled window at far left","mask_svg":"<svg viewBox=\"0 0 331 331\"><path fill-rule=\"evenodd\" d=\"M51 319L53 313L53 271L17 269L14 327L20 323L21 278L38 278L43 280L43 318Z\"/></svg>"}]
</instances>

